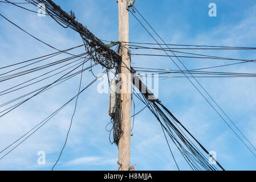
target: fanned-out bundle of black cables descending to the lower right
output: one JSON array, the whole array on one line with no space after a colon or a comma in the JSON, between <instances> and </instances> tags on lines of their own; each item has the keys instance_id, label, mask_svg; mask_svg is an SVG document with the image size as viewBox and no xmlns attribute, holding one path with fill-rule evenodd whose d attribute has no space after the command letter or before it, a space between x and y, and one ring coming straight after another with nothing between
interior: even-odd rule
<instances>
[{"instance_id":1,"label":"fanned-out bundle of black cables descending to the lower right","mask_svg":"<svg viewBox=\"0 0 256 182\"><path fill-rule=\"evenodd\" d=\"M148 97L145 96L145 94L142 94L141 97L140 94L135 93L135 96L148 107L149 111L151 111L153 115L155 115L157 121L159 121L162 127L162 130L164 131L164 135L166 133L169 136L169 139L172 140L174 145L178 148L186 163L188 163L192 170L225 170L221 164L209 154L205 147L202 146L202 144L189 133L182 123L178 121L178 119L174 117L174 115L159 100L148 100ZM166 141L168 143L167 138ZM202 154L199 147L205 152L206 155ZM214 162L216 162L217 167L209 163L209 158L212 158ZM174 162L178 167L175 159Z\"/></svg>"}]
</instances>

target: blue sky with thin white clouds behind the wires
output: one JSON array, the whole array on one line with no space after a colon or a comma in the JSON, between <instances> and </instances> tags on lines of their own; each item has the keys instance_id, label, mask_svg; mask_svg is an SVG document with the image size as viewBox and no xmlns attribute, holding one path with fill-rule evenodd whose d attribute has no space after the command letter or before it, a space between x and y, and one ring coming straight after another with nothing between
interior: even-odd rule
<instances>
[{"instance_id":1,"label":"blue sky with thin white clouds behind the wires","mask_svg":"<svg viewBox=\"0 0 256 182\"><path fill-rule=\"evenodd\" d=\"M74 11L78 21L86 25L98 38L118 40L118 14L115 0L55 0L54 2L66 11ZM211 2L217 5L217 17L208 16L208 5ZM254 1L136 1L135 5L166 43L256 47L256 3ZM3 3L0 4L0 13L31 32L32 35L58 49L82 44L76 32L70 28L60 27L51 18L39 18L35 13ZM129 23L131 42L153 42L131 14ZM21 32L3 18L0 18L0 42L0 67L55 52L54 49ZM73 51L73 53L81 52L83 48ZM132 50L132 52L143 53L137 50ZM194 52L237 59L255 59L256 56L255 51ZM59 56L58 59L63 57L65 56ZM189 69L232 63L226 60L181 60ZM132 63L134 67L177 69L167 58L162 57L132 56ZM255 65L254 63L238 64L214 69L214 71L254 73ZM94 72L96 74L102 72L101 67L95 68ZM38 74L33 73L13 81L1 82L0 88L1 90L9 88L17 82ZM23 89L0 96L0 101L3 103L21 96L58 77L31 86L27 90ZM76 76L36 96L22 107L0 118L0 148L5 148L21 137L72 98L78 90L79 78ZM85 72L83 86L93 79L91 72ZM198 78L198 80L255 146L255 78ZM117 147L109 143L109 133L105 131L105 126L110 120L108 116L109 95L99 94L96 89L97 84L94 84L79 97L70 137L62 158L55 167L56 170L117 169ZM221 121L221 118L186 78L160 79L159 99L209 151L217 152L217 160L225 169L256 169L254 156ZM136 100L136 110L139 111L141 108L143 105ZM21 146L1 159L0 169L51 169L64 144L73 110L74 102L60 111ZM132 133L131 164L136 164L138 170L177 169L170 156L161 127L149 111L144 110L136 116ZM180 168L189 170L179 152L174 146L172 147ZM46 152L45 165L37 163L38 151Z\"/></svg>"}]
</instances>

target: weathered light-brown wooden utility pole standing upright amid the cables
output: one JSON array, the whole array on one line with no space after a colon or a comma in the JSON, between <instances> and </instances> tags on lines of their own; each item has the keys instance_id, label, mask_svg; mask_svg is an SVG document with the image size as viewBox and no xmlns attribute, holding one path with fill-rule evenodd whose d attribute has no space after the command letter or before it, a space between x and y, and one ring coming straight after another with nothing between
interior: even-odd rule
<instances>
[{"instance_id":1,"label":"weathered light-brown wooden utility pole standing upright amid the cables","mask_svg":"<svg viewBox=\"0 0 256 182\"><path fill-rule=\"evenodd\" d=\"M120 171L128 171L130 167L130 147L131 147L131 70L129 56L129 11L127 10L128 0L118 0L119 14L119 42L121 42L120 56L121 63L121 116L123 135L119 140L118 164ZM124 46L123 42L126 46Z\"/></svg>"}]
</instances>

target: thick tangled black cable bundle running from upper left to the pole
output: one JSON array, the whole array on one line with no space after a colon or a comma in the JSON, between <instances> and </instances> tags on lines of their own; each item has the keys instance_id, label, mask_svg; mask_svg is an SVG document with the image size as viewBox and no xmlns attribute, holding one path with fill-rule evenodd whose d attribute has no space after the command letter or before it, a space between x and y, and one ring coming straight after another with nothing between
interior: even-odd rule
<instances>
[{"instance_id":1,"label":"thick tangled black cable bundle running from upper left to the pole","mask_svg":"<svg viewBox=\"0 0 256 182\"><path fill-rule=\"evenodd\" d=\"M107 69L115 69L119 65L120 56L101 42L100 39L96 38L86 26L77 22L75 19L75 14L71 11L70 14L66 13L56 5L51 0L30 0L32 5L37 6L38 3L43 3L45 6L45 11L51 16L56 22L58 22L64 28L72 28L80 34L86 46L87 52L90 53L90 58L95 61L95 63L101 64ZM117 44L117 43L116 43ZM113 45L111 45L113 46Z\"/></svg>"}]
</instances>

